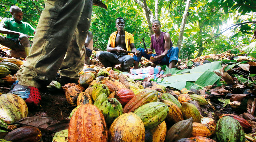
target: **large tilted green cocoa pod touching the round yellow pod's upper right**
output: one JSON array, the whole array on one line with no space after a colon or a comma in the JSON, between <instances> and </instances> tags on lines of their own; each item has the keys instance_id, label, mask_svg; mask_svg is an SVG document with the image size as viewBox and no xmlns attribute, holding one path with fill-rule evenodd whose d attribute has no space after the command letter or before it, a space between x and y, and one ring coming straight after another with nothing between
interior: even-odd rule
<instances>
[{"instance_id":1,"label":"large tilted green cocoa pod touching the round yellow pod's upper right","mask_svg":"<svg viewBox=\"0 0 256 142\"><path fill-rule=\"evenodd\" d=\"M152 129L161 124L168 112L168 106L162 102L150 102L134 111L141 118L145 129Z\"/></svg>"}]
</instances>

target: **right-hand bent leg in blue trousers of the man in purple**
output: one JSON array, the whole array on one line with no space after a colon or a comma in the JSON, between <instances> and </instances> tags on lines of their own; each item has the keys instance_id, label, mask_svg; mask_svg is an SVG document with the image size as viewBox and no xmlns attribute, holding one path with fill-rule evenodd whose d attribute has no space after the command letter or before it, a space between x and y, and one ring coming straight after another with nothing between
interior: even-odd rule
<instances>
[{"instance_id":1,"label":"right-hand bent leg in blue trousers of the man in purple","mask_svg":"<svg viewBox=\"0 0 256 142\"><path fill-rule=\"evenodd\" d=\"M178 56L179 56L179 48L178 47L171 47L171 49L168 50L167 55L162 59L160 64L167 65L170 69L174 68L174 66L178 62Z\"/></svg>"}]
</instances>

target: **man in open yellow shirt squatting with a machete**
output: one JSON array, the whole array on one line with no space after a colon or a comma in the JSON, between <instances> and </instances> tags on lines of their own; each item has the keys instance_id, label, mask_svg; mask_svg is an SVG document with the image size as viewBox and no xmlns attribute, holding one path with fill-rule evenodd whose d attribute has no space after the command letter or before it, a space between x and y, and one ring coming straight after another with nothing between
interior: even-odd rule
<instances>
[{"instance_id":1,"label":"man in open yellow shirt squatting with a machete","mask_svg":"<svg viewBox=\"0 0 256 142\"><path fill-rule=\"evenodd\" d=\"M134 60L130 53L125 51L137 52L134 46L134 38L132 34L124 31L124 19L116 18L117 31L113 32L108 40L107 51L100 51L96 54L96 58L104 65L104 67L113 67L121 64L121 70L127 71L132 66ZM141 54L138 52L138 54ZM140 56L140 55L138 55Z\"/></svg>"}]
</instances>

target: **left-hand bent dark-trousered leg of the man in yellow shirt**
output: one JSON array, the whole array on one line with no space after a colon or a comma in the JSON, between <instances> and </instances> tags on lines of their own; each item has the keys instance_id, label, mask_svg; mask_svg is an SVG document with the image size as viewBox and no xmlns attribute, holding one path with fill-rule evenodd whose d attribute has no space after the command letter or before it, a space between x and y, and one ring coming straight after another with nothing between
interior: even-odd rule
<instances>
[{"instance_id":1,"label":"left-hand bent dark-trousered leg of the man in yellow shirt","mask_svg":"<svg viewBox=\"0 0 256 142\"><path fill-rule=\"evenodd\" d=\"M117 60L117 55L108 51L100 51L96 54L96 58L101 62L101 64L107 67L113 67L114 65L120 64Z\"/></svg>"}]
</instances>

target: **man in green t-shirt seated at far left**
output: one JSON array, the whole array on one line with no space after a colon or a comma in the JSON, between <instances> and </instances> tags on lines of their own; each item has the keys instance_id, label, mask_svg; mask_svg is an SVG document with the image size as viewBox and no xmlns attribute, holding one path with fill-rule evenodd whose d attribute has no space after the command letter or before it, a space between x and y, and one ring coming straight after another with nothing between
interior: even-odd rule
<instances>
[{"instance_id":1,"label":"man in green t-shirt seated at far left","mask_svg":"<svg viewBox=\"0 0 256 142\"><path fill-rule=\"evenodd\" d=\"M26 58L30 51L28 34L35 34L35 29L27 22L23 22L22 10L17 6L11 6L12 18L4 18L0 23L0 44L10 48L10 54L15 58Z\"/></svg>"}]
</instances>

